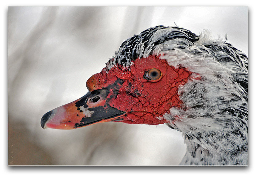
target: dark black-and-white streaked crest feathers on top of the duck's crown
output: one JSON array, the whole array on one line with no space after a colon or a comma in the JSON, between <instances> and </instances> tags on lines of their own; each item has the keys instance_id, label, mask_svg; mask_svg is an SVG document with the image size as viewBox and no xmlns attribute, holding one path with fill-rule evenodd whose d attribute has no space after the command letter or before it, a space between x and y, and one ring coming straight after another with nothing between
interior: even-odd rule
<instances>
[{"instance_id":1,"label":"dark black-and-white streaked crest feathers on top of the duck's crown","mask_svg":"<svg viewBox=\"0 0 256 178\"><path fill-rule=\"evenodd\" d=\"M160 25L149 28L139 35L134 35L130 39L125 40L115 53L115 56L110 59L110 64L107 67L110 69L116 63L124 67L129 67L135 59L148 57L153 54L156 46L168 45L168 42L174 39L180 39L180 43L177 43L178 46L173 47L183 48L183 45L193 45L193 42L196 42L199 36L179 27L169 28Z\"/></svg>"}]
</instances>

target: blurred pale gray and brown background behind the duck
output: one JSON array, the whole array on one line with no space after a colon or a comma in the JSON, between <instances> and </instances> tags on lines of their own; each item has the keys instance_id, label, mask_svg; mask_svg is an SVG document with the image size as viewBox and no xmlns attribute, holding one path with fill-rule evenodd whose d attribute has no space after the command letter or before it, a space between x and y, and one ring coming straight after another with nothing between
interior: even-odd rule
<instances>
[{"instance_id":1,"label":"blurred pale gray and brown background behind the duck","mask_svg":"<svg viewBox=\"0 0 256 178\"><path fill-rule=\"evenodd\" d=\"M178 165L181 133L157 126L101 123L42 129L48 111L87 93L122 42L156 25L227 34L248 55L248 7L9 7L9 165ZM13 161L13 162L11 162Z\"/></svg>"}]
</instances>

